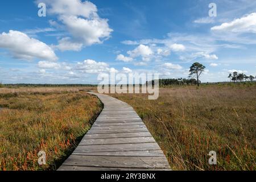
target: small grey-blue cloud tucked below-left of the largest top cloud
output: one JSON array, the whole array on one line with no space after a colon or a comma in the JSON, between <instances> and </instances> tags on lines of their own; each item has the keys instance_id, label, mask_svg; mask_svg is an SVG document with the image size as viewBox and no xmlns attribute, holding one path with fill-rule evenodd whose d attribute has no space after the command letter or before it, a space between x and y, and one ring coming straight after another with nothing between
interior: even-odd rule
<instances>
[{"instance_id":1,"label":"small grey-blue cloud tucked below-left of the largest top cloud","mask_svg":"<svg viewBox=\"0 0 256 182\"><path fill-rule=\"evenodd\" d=\"M72 42L71 38L62 38L59 40L59 44L53 46L53 48L57 48L60 51L81 51L82 43Z\"/></svg>"}]
</instances>

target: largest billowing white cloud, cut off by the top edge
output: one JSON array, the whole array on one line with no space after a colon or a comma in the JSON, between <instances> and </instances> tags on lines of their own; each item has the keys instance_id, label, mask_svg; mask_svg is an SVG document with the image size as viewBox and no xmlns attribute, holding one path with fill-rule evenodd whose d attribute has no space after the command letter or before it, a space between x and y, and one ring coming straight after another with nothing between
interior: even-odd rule
<instances>
[{"instance_id":1,"label":"largest billowing white cloud, cut off by the top edge","mask_svg":"<svg viewBox=\"0 0 256 182\"><path fill-rule=\"evenodd\" d=\"M91 46L110 38L113 30L109 27L108 19L98 16L97 7L92 2L80 0L40 0L40 2L47 4L49 14L57 15L59 22L52 20L51 24L57 27L64 26L72 35L73 39L69 38L68 42L65 40L65 44L62 42L57 48L68 50L66 45L71 44L72 40L75 44L72 44L70 50L77 51L81 49L81 43L84 46Z\"/></svg>"}]
</instances>

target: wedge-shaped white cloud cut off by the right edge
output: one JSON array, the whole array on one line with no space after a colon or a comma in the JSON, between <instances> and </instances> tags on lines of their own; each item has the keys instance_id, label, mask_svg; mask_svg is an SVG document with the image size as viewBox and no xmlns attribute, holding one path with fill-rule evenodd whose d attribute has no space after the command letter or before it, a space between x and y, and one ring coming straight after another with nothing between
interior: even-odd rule
<instances>
[{"instance_id":1,"label":"wedge-shaped white cloud cut off by the right edge","mask_svg":"<svg viewBox=\"0 0 256 182\"><path fill-rule=\"evenodd\" d=\"M220 26L210 28L213 31L226 32L253 32L256 33L256 13L243 16L242 18L234 19L232 22L222 23Z\"/></svg>"}]
</instances>

